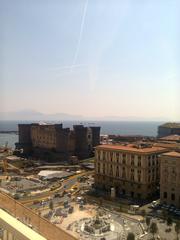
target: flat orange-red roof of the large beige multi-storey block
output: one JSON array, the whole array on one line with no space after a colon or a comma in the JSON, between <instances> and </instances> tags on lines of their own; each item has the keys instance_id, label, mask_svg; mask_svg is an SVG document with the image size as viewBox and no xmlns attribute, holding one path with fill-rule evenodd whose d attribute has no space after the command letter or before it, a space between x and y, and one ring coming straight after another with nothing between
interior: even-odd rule
<instances>
[{"instance_id":1,"label":"flat orange-red roof of the large beige multi-storey block","mask_svg":"<svg viewBox=\"0 0 180 240\"><path fill-rule=\"evenodd\" d=\"M129 144L129 145L99 145L96 149L104 149L104 150L116 150L116 151L124 151L124 152L134 152L134 153L155 153L155 152L165 152L166 149L162 147L139 147L137 145Z\"/></svg>"}]
</instances>

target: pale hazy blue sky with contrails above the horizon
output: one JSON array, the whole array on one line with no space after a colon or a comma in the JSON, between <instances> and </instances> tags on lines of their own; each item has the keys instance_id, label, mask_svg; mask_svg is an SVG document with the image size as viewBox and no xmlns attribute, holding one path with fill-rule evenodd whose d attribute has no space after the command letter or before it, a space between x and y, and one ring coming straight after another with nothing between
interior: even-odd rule
<instances>
[{"instance_id":1,"label":"pale hazy blue sky with contrails above the horizon","mask_svg":"<svg viewBox=\"0 0 180 240\"><path fill-rule=\"evenodd\" d=\"M179 0L0 0L0 112L180 120Z\"/></svg>"}]
</instances>

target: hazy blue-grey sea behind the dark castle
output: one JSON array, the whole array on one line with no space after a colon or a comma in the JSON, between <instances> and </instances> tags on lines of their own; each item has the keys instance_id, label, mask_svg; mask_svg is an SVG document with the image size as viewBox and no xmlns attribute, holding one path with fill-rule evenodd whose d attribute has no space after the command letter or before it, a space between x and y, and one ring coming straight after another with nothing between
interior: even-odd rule
<instances>
[{"instance_id":1,"label":"hazy blue-grey sea behind the dark castle","mask_svg":"<svg viewBox=\"0 0 180 240\"><path fill-rule=\"evenodd\" d=\"M37 121L0 121L1 131L18 131L18 123L32 123ZM157 136L158 126L163 122L148 121L46 121L47 123L63 123L63 127L72 129L74 124L83 124L85 126L100 126L101 134L119 134L119 135L143 135ZM14 148L15 142L18 142L18 134L0 133L0 146L8 143L9 147Z\"/></svg>"}]
</instances>

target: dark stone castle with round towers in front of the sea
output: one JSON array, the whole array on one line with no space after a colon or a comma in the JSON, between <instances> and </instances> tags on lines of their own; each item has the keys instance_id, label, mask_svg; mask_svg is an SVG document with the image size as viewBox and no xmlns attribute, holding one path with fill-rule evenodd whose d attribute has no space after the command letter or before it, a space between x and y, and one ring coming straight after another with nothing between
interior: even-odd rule
<instances>
[{"instance_id":1,"label":"dark stone castle with round towers in front of the sea","mask_svg":"<svg viewBox=\"0 0 180 240\"><path fill-rule=\"evenodd\" d=\"M62 124L19 124L17 149L24 154L43 159L67 160L72 156L79 159L93 155L94 147L100 142L100 127L74 125L73 130Z\"/></svg>"}]
</instances>

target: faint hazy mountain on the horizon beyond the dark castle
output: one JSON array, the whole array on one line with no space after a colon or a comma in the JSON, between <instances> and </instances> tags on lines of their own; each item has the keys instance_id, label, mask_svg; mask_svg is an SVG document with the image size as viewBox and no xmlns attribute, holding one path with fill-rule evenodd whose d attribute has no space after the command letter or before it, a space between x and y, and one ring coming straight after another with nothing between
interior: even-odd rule
<instances>
[{"instance_id":1,"label":"faint hazy mountain on the horizon beyond the dark castle","mask_svg":"<svg viewBox=\"0 0 180 240\"><path fill-rule=\"evenodd\" d=\"M1 120L37 120L37 121L56 121L56 120L81 120L80 115L66 113L45 114L34 110L22 110L18 112L0 112Z\"/></svg>"}]
</instances>

